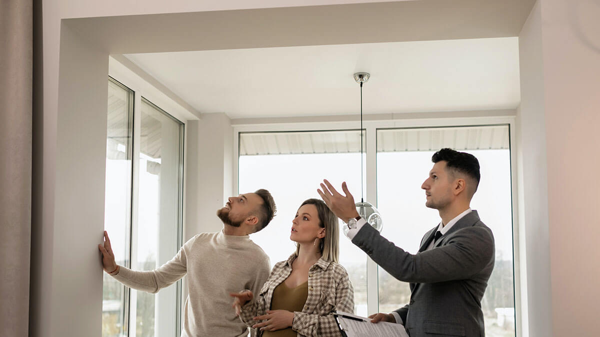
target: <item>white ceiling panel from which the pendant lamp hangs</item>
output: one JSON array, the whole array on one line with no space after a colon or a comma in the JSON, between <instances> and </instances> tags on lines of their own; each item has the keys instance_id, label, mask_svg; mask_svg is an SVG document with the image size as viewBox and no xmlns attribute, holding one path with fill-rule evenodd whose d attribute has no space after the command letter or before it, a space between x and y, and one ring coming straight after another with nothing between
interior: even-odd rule
<instances>
[{"instance_id":1,"label":"white ceiling panel from which the pendant lamp hangs","mask_svg":"<svg viewBox=\"0 0 600 337\"><path fill-rule=\"evenodd\" d=\"M200 113L230 118L514 109L518 38L128 54Z\"/></svg>"}]
</instances>

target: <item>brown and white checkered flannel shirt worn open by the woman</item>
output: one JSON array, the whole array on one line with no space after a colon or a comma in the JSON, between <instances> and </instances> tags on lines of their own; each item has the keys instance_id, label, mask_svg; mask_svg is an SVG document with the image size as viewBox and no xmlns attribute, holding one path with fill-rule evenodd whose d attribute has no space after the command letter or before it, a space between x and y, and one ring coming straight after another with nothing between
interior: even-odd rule
<instances>
[{"instance_id":1,"label":"brown and white checkered flannel shirt worn open by the woman","mask_svg":"<svg viewBox=\"0 0 600 337\"><path fill-rule=\"evenodd\" d=\"M296 253L287 261L275 264L260 294L242 306L239 318L247 326L259 323L253 318L265 315L271 309L273 291L290 276L295 258ZM320 258L308 269L308 297L302 312L294 312L292 329L298 332L298 336L341 336L333 311L353 313L354 290L341 264ZM257 336L262 335L261 331L256 333Z\"/></svg>"}]
</instances>

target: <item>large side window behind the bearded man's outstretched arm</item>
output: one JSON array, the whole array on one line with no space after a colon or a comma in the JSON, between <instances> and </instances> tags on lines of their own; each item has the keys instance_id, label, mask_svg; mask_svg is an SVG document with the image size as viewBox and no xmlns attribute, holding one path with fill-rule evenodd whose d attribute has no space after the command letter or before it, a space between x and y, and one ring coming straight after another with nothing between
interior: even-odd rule
<instances>
[{"instance_id":1,"label":"large side window behind the bearded man's outstretched arm","mask_svg":"<svg viewBox=\"0 0 600 337\"><path fill-rule=\"evenodd\" d=\"M105 228L117 263L155 269L182 244L184 125L112 79L108 116ZM149 294L105 273L103 336L179 336L180 298L181 281Z\"/></svg>"}]
</instances>

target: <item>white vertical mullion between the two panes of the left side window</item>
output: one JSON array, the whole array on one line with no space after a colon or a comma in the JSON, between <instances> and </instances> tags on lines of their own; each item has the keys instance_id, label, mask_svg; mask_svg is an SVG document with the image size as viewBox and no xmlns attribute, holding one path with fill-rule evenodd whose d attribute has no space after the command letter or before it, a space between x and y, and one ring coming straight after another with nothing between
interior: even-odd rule
<instances>
[{"instance_id":1,"label":"white vertical mullion between the two panes of the left side window","mask_svg":"<svg viewBox=\"0 0 600 337\"><path fill-rule=\"evenodd\" d=\"M130 245L130 268L139 269L137 264L137 230L138 207L139 207L139 187L140 187L140 131L142 130L141 110L142 95L139 92L134 94L133 103L133 181L131 188L131 245ZM129 301L129 336L136 336L136 314L137 314L137 291L130 290Z\"/></svg>"}]
</instances>

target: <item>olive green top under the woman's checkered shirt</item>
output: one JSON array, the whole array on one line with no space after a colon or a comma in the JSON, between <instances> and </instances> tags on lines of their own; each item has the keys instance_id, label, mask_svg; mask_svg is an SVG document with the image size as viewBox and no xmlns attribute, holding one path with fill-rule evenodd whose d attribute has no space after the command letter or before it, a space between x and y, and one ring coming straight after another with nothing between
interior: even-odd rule
<instances>
[{"instance_id":1,"label":"olive green top under the woman's checkered shirt","mask_svg":"<svg viewBox=\"0 0 600 337\"><path fill-rule=\"evenodd\" d=\"M298 285L296 288L288 288L286 282L281 282L280 285L273 290L273 300L271 302L271 310L287 310L291 312L302 311L304 303L308 297L308 281ZM276 331L265 331L263 337L296 337L298 333L292 330L292 327Z\"/></svg>"}]
</instances>

